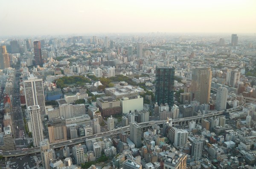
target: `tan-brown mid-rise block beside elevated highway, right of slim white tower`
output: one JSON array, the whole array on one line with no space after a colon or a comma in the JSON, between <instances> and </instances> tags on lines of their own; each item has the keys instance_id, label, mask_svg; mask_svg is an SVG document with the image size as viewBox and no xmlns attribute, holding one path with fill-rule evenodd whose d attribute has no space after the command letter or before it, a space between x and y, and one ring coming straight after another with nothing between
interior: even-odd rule
<instances>
[{"instance_id":1,"label":"tan-brown mid-rise block beside elevated highway, right of slim white tower","mask_svg":"<svg viewBox=\"0 0 256 169\"><path fill-rule=\"evenodd\" d=\"M49 142L57 143L67 140L67 126L63 117L54 118L48 124Z\"/></svg>"}]
</instances>

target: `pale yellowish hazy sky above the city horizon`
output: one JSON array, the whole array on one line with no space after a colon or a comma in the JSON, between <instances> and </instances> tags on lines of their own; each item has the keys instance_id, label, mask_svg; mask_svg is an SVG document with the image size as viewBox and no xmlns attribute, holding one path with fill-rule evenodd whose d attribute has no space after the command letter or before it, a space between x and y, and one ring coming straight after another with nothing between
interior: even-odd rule
<instances>
[{"instance_id":1,"label":"pale yellowish hazy sky above the city horizon","mask_svg":"<svg viewBox=\"0 0 256 169\"><path fill-rule=\"evenodd\" d=\"M256 0L0 0L0 36L256 33Z\"/></svg>"}]
</instances>

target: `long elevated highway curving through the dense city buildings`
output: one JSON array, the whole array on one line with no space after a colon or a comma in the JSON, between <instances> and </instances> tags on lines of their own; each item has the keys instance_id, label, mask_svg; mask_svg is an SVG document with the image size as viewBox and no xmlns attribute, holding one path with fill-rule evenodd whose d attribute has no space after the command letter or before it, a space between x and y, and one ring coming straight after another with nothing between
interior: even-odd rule
<instances>
[{"instance_id":1,"label":"long elevated highway curving through the dense city buildings","mask_svg":"<svg viewBox=\"0 0 256 169\"><path fill-rule=\"evenodd\" d=\"M244 105L245 105L245 100L243 99L242 104L240 106L234 107L231 109L227 109L227 111L234 112L234 111L242 110ZM186 118L177 118L177 119L172 120L172 125L173 126L186 125L186 124L189 124L189 121L196 121L197 123L200 123L204 118L222 115L223 113L224 113L224 110L221 110L221 111L216 111L216 112L212 112L212 113L208 113L208 114L204 114L204 115L196 115L196 116L186 117ZM163 124L164 122L166 122L166 120L147 121L147 122L143 122L143 123L139 123L139 124L142 127L142 129L146 129L148 127L151 127L153 124L160 125L160 124ZM58 143L51 143L50 148L55 149L55 148L61 148L63 146L72 146L75 144L82 144L88 139L90 140L93 138L100 138L103 136L118 135L121 130L123 132L130 132L130 126L119 127L117 129L114 129L111 131L96 133L96 134L93 134L90 136L74 138L74 139L67 140L67 141L59 141ZM2 155L3 157L14 157L14 156L23 156L23 155L27 155L27 154L33 154L33 153L37 153L37 152L40 152L39 147L30 148L25 151L23 151L23 150L5 151L5 152L2 152L0 155Z\"/></svg>"}]
</instances>

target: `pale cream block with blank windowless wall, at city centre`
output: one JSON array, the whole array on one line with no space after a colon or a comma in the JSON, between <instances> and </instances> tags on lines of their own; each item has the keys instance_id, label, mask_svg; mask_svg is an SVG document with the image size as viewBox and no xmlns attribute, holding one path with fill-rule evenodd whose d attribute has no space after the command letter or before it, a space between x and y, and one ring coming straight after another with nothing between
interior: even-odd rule
<instances>
[{"instance_id":1,"label":"pale cream block with blank windowless wall, at city centre","mask_svg":"<svg viewBox=\"0 0 256 169\"><path fill-rule=\"evenodd\" d=\"M120 99L120 106L122 108L122 113L129 113L134 110L141 111L143 110L143 97L134 96L134 97L123 97Z\"/></svg>"}]
</instances>

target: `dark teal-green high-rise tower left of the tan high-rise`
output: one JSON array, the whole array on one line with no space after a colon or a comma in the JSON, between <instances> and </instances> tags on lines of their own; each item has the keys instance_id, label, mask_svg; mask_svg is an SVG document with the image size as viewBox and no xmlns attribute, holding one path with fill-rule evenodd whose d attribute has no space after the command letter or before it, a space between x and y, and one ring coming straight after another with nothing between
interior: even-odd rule
<instances>
[{"instance_id":1,"label":"dark teal-green high-rise tower left of the tan high-rise","mask_svg":"<svg viewBox=\"0 0 256 169\"><path fill-rule=\"evenodd\" d=\"M156 68L156 94L155 99L158 105L168 104L169 107L174 105L174 75L173 67Z\"/></svg>"}]
</instances>

